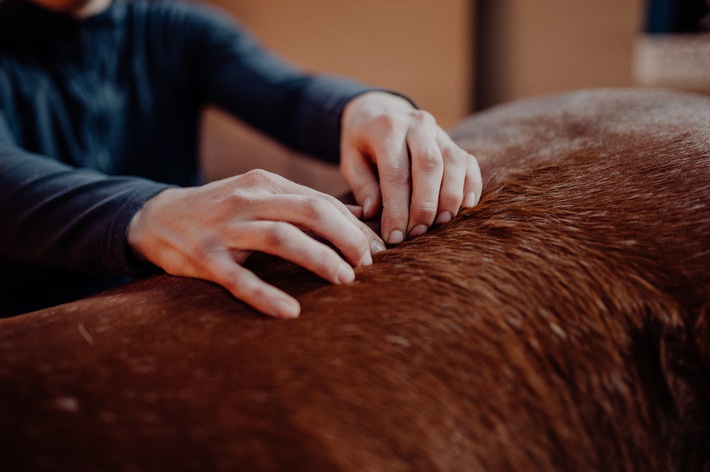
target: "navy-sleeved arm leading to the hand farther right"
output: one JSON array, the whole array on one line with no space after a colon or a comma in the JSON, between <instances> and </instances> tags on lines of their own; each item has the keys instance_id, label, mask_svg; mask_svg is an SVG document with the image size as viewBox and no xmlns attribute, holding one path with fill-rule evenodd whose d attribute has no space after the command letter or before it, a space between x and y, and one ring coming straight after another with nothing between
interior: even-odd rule
<instances>
[{"instance_id":1,"label":"navy-sleeved arm leading to the hand farther right","mask_svg":"<svg viewBox=\"0 0 710 472\"><path fill-rule=\"evenodd\" d=\"M202 10L191 20L182 28L184 50L205 101L292 149L337 162L342 110L370 87L305 74L262 48L225 15Z\"/></svg>"}]
</instances>

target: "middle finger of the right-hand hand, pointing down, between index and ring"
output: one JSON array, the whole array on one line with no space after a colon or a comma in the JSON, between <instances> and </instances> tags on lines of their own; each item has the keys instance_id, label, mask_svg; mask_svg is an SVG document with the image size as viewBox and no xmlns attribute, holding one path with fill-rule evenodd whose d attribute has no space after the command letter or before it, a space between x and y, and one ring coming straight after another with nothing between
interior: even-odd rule
<instances>
[{"instance_id":1,"label":"middle finger of the right-hand hand, pointing down, between index and ring","mask_svg":"<svg viewBox=\"0 0 710 472\"><path fill-rule=\"evenodd\" d=\"M412 201L407 230L410 236L419 236L429 229L436 217L444 163L436 139L438 127L434 118L423 111L411 115L415 122L407 135L412 166Z\"/></svg>"}]
</instances>

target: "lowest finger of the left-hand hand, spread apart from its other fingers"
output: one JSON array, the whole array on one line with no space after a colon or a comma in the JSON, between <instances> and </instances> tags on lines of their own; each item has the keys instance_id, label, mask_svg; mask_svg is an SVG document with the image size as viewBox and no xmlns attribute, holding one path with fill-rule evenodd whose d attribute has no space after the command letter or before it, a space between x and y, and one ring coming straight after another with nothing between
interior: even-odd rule
<instances>
[{"instance_id":1,"label":"lowest finger of the left-hand hand, spread apart from its other fingers","mask_svg":"<svg viewBox=\"0 0 710 472\"><path fill-rule=\"evenodd\" d=\"M288 319L298 317L301 312L295 298L234 262L228 252L210 258L204 272L197 276L221 285L234 297L266 315Z\"/></svg>"}]
</instances>

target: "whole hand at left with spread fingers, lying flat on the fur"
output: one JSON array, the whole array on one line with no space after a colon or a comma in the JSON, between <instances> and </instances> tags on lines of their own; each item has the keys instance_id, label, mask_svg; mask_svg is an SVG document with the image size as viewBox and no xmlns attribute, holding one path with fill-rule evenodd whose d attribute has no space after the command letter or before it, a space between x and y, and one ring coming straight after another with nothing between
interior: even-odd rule
<instances>
[{"instance_id":1,"label":"whole hand at left with spread fingers, lying flat on the fur","mask_svg":"<svg viewBox=\"0 0 710 472\"><path fill-rule=\"evenodd\" d=\"M308 233L332 243L342 257ZM282 257L341 284L355 279L353 266L371 264L372 254L385 247L334 197L261 170L160 192L133 217L128 244L169 274L217 283L279 318L298 316L300 306L243 267L252 252Z\"/></svg>"}]
</instances>

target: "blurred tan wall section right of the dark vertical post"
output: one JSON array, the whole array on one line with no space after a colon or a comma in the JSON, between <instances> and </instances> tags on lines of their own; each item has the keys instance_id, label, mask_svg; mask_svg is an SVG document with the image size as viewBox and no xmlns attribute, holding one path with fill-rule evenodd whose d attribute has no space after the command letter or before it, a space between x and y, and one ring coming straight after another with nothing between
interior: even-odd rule
<instances>
[{"instance_id":1,"label":"blurred tan wall section right of the dark vertical post","mask_svg":"<svg viewBox=\"0 0 710 472\"><path fill-rule=\"evenodd\" d=\"M477 105L633 85L643 6L643 0L481 2Z\"/></svg>"}]
</instances>

